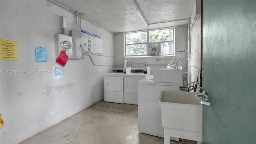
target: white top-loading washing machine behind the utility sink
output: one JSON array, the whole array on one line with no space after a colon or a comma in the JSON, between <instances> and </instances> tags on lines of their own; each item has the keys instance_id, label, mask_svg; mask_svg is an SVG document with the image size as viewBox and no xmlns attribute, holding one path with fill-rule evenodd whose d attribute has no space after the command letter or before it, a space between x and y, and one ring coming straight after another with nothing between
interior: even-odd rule
<instances>
[{"instance_id":1,"label":"white top-loading washing machine behind the utility sink","mask_svg":"<svg viewBox=\"0 0 256 144\"><path fill-rule=\"evenodd\" d=\"M155 75L156 72L154 72ZM139 132L164 138L161 105L158 100L162 90L179 91L180 86L183 86L182 77L179 82L154 82L153 75L138 82ZM171 137L170 139L179 141L178 138Z\"/></svg>"}]
</instances>

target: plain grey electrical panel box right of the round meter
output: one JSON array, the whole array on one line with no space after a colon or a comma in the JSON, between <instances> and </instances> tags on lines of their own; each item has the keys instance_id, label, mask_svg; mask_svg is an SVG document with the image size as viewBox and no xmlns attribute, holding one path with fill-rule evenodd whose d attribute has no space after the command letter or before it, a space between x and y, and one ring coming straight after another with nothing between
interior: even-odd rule
<instances>
[{"instance_id":1,"label":"plain grey electrical panel box right of the round meter","mask_svg":"<svg viewBox=\"0 0 256 144\"><path fill-rule=\"evenodd\" d=\"M84 35L81 32L70 30L69 35L72 36L73 42L73 59L84 59Z\"/></svg>"}]
</instances>

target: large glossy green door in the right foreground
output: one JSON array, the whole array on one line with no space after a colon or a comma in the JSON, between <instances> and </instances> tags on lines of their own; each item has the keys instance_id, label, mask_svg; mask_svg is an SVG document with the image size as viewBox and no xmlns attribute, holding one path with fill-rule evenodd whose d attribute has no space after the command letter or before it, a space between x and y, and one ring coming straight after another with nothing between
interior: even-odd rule
<instances>
[{"instance_id":1,"label":"large glossy green door in the right foreground","mask_svg":"<svg viewBox=\"0 0 256 144\"><path fill-rule=\"evenodd\" d=\"M203 1L204 144L256 144L256 1Z\"/></svg>"}]
</instances>

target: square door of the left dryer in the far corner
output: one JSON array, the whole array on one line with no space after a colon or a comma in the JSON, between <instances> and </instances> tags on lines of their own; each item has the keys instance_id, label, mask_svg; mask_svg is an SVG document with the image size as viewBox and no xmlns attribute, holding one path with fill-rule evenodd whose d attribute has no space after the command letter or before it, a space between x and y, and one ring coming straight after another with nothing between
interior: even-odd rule
<instances>
[{"instance_id":1,"label":"square door of the left dryer in the far corner","mask_svg":"<svg viewBox=\"0 0 256 144\"><path fill-rule=\"evenodd\" d=\"M104 76L105 91L122 92L123 76Z\"/></svg>"}]
</instances>

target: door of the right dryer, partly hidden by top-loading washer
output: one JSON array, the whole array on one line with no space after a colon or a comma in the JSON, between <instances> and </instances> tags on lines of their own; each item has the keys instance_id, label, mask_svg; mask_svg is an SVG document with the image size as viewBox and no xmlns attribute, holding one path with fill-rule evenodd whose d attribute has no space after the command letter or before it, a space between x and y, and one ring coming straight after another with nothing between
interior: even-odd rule
<instances>
[{"instance_id":1,"label":"door of the right dryer, partly hidden by top-loading washer","mask_svg":"<svg viewBox=\"0 0 256 144\"><path fill-rule=\"evenodd\" d=\"M138 81L143 80L144 77L124 77L124 92L138 93Z\"/></svg>"}]
</instances>

